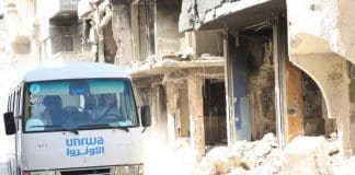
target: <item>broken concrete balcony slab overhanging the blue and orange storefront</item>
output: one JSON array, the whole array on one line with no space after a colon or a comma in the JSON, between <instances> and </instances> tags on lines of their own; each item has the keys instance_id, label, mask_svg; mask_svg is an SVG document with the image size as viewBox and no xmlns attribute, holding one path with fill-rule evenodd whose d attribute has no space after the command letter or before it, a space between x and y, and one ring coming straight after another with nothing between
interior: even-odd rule
<instances>
[{"instance_id":1,"label":"broken concrete balcony slab overhanging the blue and orange storefront","mask_svg":"<svg viewBox=\"0 0 355 175\"><path fill-rule=\"evenodd\" d=\"M243 28L285 10L282 0L196 0L195 5L196 10L191 10L190 0L182 1L180 32Z\"/></svg>"}]
</instances>

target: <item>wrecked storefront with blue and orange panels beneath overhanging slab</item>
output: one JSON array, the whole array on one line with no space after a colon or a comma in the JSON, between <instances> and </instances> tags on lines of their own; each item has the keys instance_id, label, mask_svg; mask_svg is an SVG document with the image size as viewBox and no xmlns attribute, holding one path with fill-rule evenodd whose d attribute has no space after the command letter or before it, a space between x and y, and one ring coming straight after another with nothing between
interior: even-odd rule
<instances>
[{"instance_id":1,"label":"wrecked storefront with blue and orange panels beneath overhanging slab","mask_svg":"<svg viewBox=\"0 0 355 175\"><path fill-rule=\"evenodd\" d=\"M180 31L222 31L228 143L336 132L316 81L288 58L286 2L182 2Z\"/></svg>"}]
</instances>

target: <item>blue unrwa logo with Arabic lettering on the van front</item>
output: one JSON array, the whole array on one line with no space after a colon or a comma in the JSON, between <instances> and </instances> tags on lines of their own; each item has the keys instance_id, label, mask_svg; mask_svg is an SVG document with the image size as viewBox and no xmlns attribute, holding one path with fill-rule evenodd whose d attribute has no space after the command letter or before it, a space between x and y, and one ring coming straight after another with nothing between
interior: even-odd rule
<instances>
[{"instance_id":1,"label":"blue unrwa logo with Arabic lettering on the van front","mask_svg":"<svg viewBox=\"0 0 355 175\"><path fill-rule=\"evenodd\" d=\"M67 156L98 155L105 153L102 137L66 139Z\"/></svg>"}]
</instances>

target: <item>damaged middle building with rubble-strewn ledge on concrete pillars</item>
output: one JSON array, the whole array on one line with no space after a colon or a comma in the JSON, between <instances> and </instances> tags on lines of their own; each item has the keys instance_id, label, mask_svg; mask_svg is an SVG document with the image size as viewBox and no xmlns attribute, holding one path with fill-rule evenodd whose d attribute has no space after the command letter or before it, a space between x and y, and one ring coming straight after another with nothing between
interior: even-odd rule
<instances>
[{"instance_id":1,"label":"damaged middle building with rubble-strewn ledge on concrete pillars","mask_svg":"<svg viewBox=\"0 0 355 175\"><path fill-rule=\"evenodd\" d=\"M111 25L99 28L99 61L110 62L105 52L115 50L114 62L129 70L138 102L151 107L151 137L167 145L191 138L199 156L205 145L227 144L224 33L179 33L180 0L83 3L82 23L98 23L110 7Z\"/></svg>"}]
</instances>

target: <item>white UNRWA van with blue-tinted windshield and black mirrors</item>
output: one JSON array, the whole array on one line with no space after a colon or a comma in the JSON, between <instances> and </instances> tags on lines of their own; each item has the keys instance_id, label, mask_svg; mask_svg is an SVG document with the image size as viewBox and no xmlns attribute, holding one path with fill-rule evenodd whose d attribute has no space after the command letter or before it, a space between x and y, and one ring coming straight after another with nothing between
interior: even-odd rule
<instances>
[{"instance_id":1,"label":"white UNRWA van with blue-tinted windshield and black mirrors","mask_svg":"<svg viewBox=\"0 0 355 175\"><path fill-rule=\"evenodd\" d=\"M5 132L14 137L11 175L142 173L142 132L128 74L96 62L38 67L9 95Z\"/></svg>"}]
</instances>

